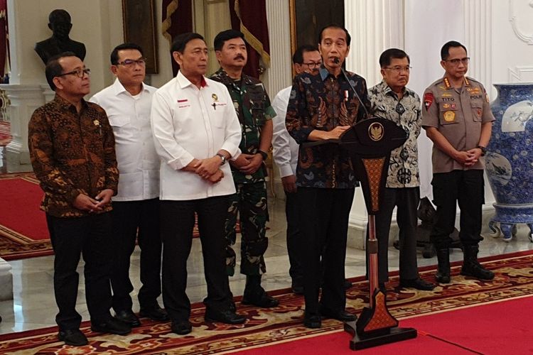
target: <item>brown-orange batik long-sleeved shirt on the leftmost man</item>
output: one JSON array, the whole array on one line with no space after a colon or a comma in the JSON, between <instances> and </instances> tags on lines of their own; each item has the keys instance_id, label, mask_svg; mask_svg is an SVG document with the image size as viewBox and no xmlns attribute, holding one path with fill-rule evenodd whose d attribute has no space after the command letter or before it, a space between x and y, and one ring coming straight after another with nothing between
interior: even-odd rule
<instances>
[{"instance_id":1,"label":"brown-orange batik long-sleeved shirt on the leftmost man","mask_svg":"<svg viewBox=\"0 0 533 355\"><path fill-rule=\"evenodd\" d=\"M83 217L77 195L94 198L102 190L117 194L119 170L113 130L104 109L82 100L82 109L55 95L33 112L28 124L33 172L45 192L41 209L55 217ZM109 204L104 212L111 210Z\"/></svg>"}]
</instances>

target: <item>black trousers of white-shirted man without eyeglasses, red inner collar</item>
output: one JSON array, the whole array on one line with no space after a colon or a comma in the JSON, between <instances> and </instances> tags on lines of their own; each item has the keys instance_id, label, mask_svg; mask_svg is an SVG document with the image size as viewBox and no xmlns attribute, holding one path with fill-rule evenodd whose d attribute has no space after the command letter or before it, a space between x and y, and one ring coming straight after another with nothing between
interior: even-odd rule
<instances>
[{"instance_id":1,"label":"black trousers of white-shirted man without eyeglasses, red inner collar","mask_svg":"<svg viewBox=\"0 0 533 355\"><path fill-rule=\"evenodd\" d=\"M193 243L194 214L202 244L208 297L204 304L215 310L232 307L232 293L225 263L224 224L227 196L189 201L161 201L161 239L163 239L163 303L173 321L188 320L190 301L187 288L187 258Z\"/></svg>"}]
</instances>

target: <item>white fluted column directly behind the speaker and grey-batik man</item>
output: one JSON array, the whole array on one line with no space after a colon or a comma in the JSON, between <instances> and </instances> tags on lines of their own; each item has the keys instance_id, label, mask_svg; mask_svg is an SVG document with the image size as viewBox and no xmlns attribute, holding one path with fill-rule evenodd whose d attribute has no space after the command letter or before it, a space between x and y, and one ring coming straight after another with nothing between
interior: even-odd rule
<instances>
[{"instance_id":1,"label":"white fluted column directly behind the speaker and grey-batik man","mask_svg":"<svg viewBox=\"0 0 533 355\"><path fill-rule=\"evenodd\" d=\"M346 69L372 87L382 80L379 55L387 48L404 48L404 1L345 0L344 6L345 27L352 36ZM358 187L350 211L349 246L364 249L366 226L365 200Z\"/></svg>"}]
</instances>

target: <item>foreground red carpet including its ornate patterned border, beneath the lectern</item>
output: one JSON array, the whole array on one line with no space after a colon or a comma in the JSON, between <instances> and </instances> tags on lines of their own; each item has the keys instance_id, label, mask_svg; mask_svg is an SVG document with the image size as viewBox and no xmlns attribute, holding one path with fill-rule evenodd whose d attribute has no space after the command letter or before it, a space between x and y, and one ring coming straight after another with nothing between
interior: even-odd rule
<instances>
[{"instance_id":1,"label":"foreground red carpet including its ornate patterned border, beneath the lectern","mask_svg":"<svg viewBox=\"0 0 533 355\"><path fill-rule=\"evenodd\" d=\"M453 283L439 285L433 292L392 288L398 283L397 273L392 273L389 311L400 320L400 326L418 329L419 337L362 351L531 354L533 251L485 258L483 264L495 271L494 280L465 278L458 275L460 266L454 263ZM423 268L421 277L431 280L434 272L434 267ZM359 315L368 304L368 283L362 277L352 281L347 308ZM83 322L82 331L90 341L87 346L65 346L57 340L57 327L48 327L0 335L0 354L354 354L348 350L350 334L342 331L342 323L323 320L321 329L307 329L301 323L303 298L286 289L272 294L279 300L279 307L272 309L241 305L240 297L236 297L238 312L247 317L245 324L204 322L205 308L196 303L190 316L193 332L187 336L171 333L169 323L145 319L125 337L95 334L89 323Z\"/></svg>"}]
</instances>

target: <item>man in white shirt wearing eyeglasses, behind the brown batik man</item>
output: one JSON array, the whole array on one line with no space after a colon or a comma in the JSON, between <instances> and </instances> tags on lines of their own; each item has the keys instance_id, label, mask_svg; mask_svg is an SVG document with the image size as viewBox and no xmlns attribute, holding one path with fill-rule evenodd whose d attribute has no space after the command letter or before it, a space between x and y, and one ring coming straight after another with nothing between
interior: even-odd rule
<instances>
[{"instance_id":1,"label":"man in white shirt wearing eyeglasses, behind the brown batik man","mask_svg":"<svg viewBox=\"0 0 533 355\"><path fill-rule=\"evenodd\" d=\"M150 127L155 87L144 84L146 58L134 43L117 45L111 53L114 83L90 101L107 113L115 137L119 192L113 198L114 266L111 275L115 317L131 327L141 325L132 311L129 261L138 241L141 249L141 317L168 320L158 305L161 295L161 236L159 234L159 157Z\"/></svg>"}]
</instances>

